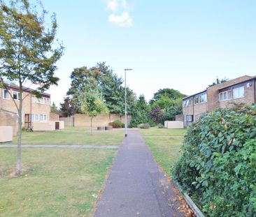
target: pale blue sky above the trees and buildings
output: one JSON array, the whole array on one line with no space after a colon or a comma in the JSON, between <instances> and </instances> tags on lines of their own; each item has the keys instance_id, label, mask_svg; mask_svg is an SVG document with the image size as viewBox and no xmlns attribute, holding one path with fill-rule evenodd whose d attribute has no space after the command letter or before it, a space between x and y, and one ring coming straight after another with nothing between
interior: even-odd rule
<instances>
[{"instance_id":1,"label":"pale blue sky above the trees and buildings","mask_svg":"<svg viewBox=\"0 0 256 217\"><path fill-rule=\"evenodd\" d=\"M65 47L52 102L59 105L73 68L106 61L137 96L163 88L191 95L216 80L256 75L255 0L41 0L57 15Z\"/></svg>"}]
</instances>

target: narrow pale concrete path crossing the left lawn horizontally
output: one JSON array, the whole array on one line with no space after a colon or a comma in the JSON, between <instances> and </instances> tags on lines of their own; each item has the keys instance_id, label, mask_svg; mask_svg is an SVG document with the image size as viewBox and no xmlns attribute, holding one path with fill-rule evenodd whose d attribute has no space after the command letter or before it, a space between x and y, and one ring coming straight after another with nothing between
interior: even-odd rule
<instances>
[{"instance_id":1,"label":"narrow pale concrete path crossing the left lawn horizontally","mask_svg":"<svg viewBox=\"0 0 256 217\"><path fill-rule=\"evenodd\" d=\"M14 148L17 144L0 144L0 148ZM89 144L22 144L22 148L57 148L57 149L118 149L118 145Z\"/></svg>"}]
</instances>

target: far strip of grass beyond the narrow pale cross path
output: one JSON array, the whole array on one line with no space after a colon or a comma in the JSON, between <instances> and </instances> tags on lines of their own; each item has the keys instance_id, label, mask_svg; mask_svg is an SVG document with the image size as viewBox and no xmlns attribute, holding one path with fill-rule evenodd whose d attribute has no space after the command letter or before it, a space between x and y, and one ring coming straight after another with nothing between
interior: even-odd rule
<instances>
[{"instance_id":1,"label":"far strip of grass beyond the narrow pale cross path","mask_svg":"<svg viewBox=\"0 0 256 217\"><path fill-rule=\"evenodd\" d=\"M88 128L66 127L51 132L22 132L22 144L101 144L120 145L124 137L122 130L94 131ZM13 138L13 144L17 144ZM1 145L1 144L0 144Z\"/></svg>"}]
</instances>

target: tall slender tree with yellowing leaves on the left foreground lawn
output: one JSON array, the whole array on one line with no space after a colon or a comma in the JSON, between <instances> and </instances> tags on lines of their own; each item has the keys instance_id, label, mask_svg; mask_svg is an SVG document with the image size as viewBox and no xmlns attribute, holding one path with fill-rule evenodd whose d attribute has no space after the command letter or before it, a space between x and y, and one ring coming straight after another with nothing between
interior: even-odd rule
<instances>
[{"instance_id":1,"label":"tall slender tree with yellowing leaves on the left foreground lawn","mask_svg":"<svg viewBox=\"0 0 256 217\"><path fill-rule=\"evenodd\" d=\"M38 7L37 7L38 8ZM20 96L24 83L37 84L36 95L59 81L54 73L55 63L60 59L63 47L55 41L57 22L51 17L50 26L45 25L45 10L38 11L27 0L13 0L6 4L0 0L0 79L3 88L8 89L4 80L16 82ZM56 47L53 47L53 46ZM25 94L24 94L25 95ZM11 94L10 94L11 96ZM26 97L25 95L24 97ZM12 97L12 96L11 96ZM21 174L22 103L13 100L18 113L17 166L15 174Z\"/></svg>"}]
</instances>

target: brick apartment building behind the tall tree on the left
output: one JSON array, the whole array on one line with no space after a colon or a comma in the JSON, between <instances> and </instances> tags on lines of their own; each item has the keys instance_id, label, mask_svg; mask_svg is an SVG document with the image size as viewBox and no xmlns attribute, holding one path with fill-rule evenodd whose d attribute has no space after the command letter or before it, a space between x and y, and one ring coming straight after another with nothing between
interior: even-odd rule
<instances>
[{"instance_id":1,"label":"brick apartment building behind the tall tree on the left","mask_svg":"<svg viewBox=\"0 0 256 217\"><path fill-rule=\"evenodd\" d=\"M17 132L17 108L10 94L19 105L20 94L17 86L8 84L8 90L0 88L0 126L12 126ZM41 98L36 98L31 92L33 89L24 87L22 126L27 128L32 122L49 121L50 119L50 94L41 93Z\"/></svg>"}]
</instances>

